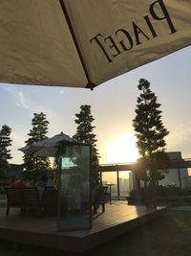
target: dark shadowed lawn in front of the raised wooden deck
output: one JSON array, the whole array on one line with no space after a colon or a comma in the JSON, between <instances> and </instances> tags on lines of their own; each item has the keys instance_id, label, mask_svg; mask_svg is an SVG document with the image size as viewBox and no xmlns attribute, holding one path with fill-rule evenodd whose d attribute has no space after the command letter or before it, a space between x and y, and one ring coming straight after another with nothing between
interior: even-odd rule
<instances>
[{"instance_id":1,"label":"dark shadowed lawn in front of the raised wooden deck","mask_svg":"<svg viewBox=\"0 0 191 256\"><path fill-rule=\"evenodd\" d=\"M60 256L60 251L23 246L18 251L0 243L0 256ZM168 211L156 221L138 227L86 253L90 256L191 256L191 212Z\"/></svg>"}]
</instances>

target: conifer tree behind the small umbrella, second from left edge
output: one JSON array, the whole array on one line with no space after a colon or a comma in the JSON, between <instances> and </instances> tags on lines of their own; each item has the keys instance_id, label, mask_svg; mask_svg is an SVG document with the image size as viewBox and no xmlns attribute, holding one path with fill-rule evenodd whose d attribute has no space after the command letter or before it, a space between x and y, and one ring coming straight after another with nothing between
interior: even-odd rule
<instances>
[{"instance_id":1,"label":"conifer tree behind the small umbrella, second from left edge","mask_svg":"<svg viewBox=\"0 0 191 256\"><path fill-rule=\"evenodd\" d=\"M49 124L50 123L47 121L46 115L43 112L39 114L34 113L32 118L32 129L30 129L30 132L28 133L29 139L25 141L27 146L32 145L33 142L46 139ZM32 154L25 154L23 160L26 171L47 170L51 166L48 157L37 157Z\"/></svg>"}]
</instances>

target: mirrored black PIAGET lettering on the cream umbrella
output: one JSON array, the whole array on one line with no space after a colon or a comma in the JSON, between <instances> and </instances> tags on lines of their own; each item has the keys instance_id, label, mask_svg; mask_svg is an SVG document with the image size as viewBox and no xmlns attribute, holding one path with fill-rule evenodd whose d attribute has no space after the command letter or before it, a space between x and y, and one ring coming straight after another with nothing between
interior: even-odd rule
<instances>
[{"instance_id":1,"label":"mirrored black PIAGET lettering on the cream umbrella","mask_svg":"<svg viewBox=\"0 0 191 256\"><path fill-rule=\"evenodd\" d=\"M144 43L145 40L148 41L159 36L159 31L156 30L154 24L156 20L166 22L168 34L170 33L172 35L177 32L162 0L152 3L149 6L149 14L144 15L142 18L146 30L145 28L142 30L136 22L132 21L132 27L129 30L118 29L114 35L108 36L97 34L90 41L92 44L96 43L108 62L112 62L118 55L130 51L134 46L138 46ZM121 36L123 39L120 39Z\"/></svg>"}]
</instances>

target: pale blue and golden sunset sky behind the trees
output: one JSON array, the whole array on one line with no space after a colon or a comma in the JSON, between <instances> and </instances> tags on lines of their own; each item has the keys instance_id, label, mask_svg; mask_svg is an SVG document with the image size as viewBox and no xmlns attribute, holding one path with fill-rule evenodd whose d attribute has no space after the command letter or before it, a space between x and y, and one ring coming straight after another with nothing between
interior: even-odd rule
<instances>
[{"instance_id":1,"label":"pale blue and golden sunset sky behind the trees","mask_svg":"<svg viewBox=\"0 0 191 256\"><path fill-rule=\"evenodd\" d=\"M162 121L170 133L166 151L191 158L191 47L139 67L89 89L0 83L0 127L11 127L11 163L22 163L21 151L32 128L33 113L44 112L50 122L48 137L63 131L73 136L75 113L92 105L100 163L134 161L138 157L132 127L138 80L151 82L161 104Z\"/></svg>"}]
</instances>

